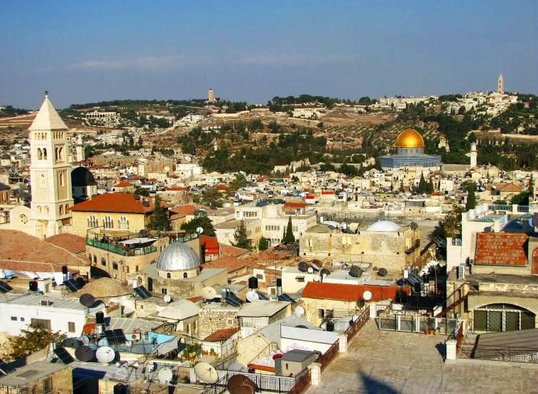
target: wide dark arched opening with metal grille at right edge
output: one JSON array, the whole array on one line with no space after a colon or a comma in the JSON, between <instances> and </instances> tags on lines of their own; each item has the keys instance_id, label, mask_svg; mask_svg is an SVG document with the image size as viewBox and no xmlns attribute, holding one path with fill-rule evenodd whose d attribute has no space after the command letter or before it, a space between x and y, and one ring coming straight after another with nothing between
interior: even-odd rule
<instances>
[{"instance_id":1,"label":"wide dark arched opening with metal grille at right edge","mask_svg":"<svg viewBox=\"0 0 538 394\"><path fill-rule=\"evenodd\" d=\"M490 304L473 311L473 331L517 331L534 328L536 315L512 304Z\"/></svg>"}]
</instances>

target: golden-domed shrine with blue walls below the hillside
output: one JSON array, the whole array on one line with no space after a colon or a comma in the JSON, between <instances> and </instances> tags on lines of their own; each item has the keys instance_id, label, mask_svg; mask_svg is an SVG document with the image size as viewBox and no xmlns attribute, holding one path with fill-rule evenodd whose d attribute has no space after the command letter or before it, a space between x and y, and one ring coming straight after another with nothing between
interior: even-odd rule
<instances>
[{"instance_id":1,"label":"golden-domed shrine with blue walls below the hillside","mask_svg":"<svg viewBox=\"0 0 538 394\"><path fill-rule=\"evenodd\" d=\"M397 169L429 169L441 167L441 157L424 154L424 138L415 129L408 128L400 133L395 142L396 154L381 156L381 167L385 171Z\"/></svg>"}]
</instances>

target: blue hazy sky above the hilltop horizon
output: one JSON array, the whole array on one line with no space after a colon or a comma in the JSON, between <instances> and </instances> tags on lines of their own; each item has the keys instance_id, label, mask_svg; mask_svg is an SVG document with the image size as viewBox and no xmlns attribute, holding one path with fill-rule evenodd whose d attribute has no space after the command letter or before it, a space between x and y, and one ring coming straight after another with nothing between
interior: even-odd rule
<instances>
[{"instance_id":1,"label":"blue hazy sky above the hilltop horizon","mask_svg":"<svg viewBox=\"0 0 538 394\"><path fill-rule=\"evenodd\" d=\"M538 94L538 1L2 1L0 105Z\"/></svg>"}]
</instances>

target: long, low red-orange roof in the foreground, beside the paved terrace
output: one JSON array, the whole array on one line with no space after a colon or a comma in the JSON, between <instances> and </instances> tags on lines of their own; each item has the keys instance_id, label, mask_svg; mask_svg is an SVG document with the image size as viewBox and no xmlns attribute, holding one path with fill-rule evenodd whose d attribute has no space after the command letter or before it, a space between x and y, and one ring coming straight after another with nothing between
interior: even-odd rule
<instances>
[{"instance_id":1,"label":"long, low red-orange roof in the foreground, beside the paved terrace","mask_svg":"<svg viewBox=\"0 0 538 394\"><path fill-rule=\"evenodd\" d=\"M363 299L365 291L372 293L372 301L394 300L396 292L410 293L410 288L400 286L346 285L341 283L308 282L302 298L322 300L357 301Z\"/></svg>"}]
</instances>

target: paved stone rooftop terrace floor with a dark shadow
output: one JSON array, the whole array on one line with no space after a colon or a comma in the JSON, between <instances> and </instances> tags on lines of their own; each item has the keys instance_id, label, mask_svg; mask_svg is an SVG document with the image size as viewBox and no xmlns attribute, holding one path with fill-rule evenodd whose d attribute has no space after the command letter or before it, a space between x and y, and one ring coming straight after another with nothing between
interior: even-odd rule
<instances>
[{"instance_id":1,"label":"paved stone rooftop terrace floor with a dark shadow","mask_svg":"<svg viewBox=\"0 0 538 394\"><path fill-rule=\"evenodd\" d=\"M444 335L378 330L368 321L307 394L538 393L538 365L445 363Z\"/></svg>"}]
</instances>

